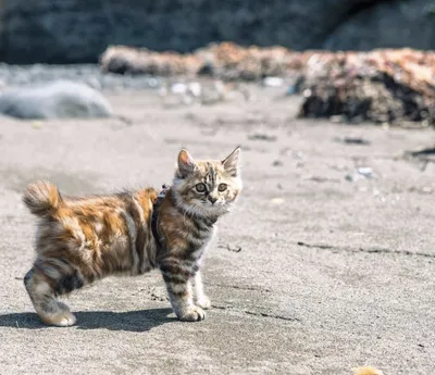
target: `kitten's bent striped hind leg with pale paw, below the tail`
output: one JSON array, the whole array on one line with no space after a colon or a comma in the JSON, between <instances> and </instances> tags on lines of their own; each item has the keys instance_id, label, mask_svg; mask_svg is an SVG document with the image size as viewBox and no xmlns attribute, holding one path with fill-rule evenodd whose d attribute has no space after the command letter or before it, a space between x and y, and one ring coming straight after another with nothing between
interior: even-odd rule
<instances>
[{"instance_id":1,"label":"kitten's bent striped hind leg with pale paw, below the tail","mask_svg":"<svg viewBox=\"0 0 435 375\"><path fill-rule=\"evenodd\" d=\"M34 267L24 277L24 285L32 303L40 318L49 325L71 326L76 322L66 304L57 300L58 296L69 293L84 285L83 276L70 268L62 274L54 261L36 261ZM63 267L65 268L65 267Z\"/></svg>"}]
</instances>

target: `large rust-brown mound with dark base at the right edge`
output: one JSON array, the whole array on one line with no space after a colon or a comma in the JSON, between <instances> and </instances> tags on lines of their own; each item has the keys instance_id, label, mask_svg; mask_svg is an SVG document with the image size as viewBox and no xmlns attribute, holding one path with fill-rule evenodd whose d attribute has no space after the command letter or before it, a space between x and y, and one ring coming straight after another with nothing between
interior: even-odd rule
<instances>
[{"instance_id":1,"label":"large rust-brown mound with dark base at the right edge","mask_svg":"<svg viewBox=\"0 0 435 375\"><path fill-rule=\"evenodd\" d=\"M318 53L304 78L302 117L435 124L435 52Z\"/></svg>"}]
</instances>

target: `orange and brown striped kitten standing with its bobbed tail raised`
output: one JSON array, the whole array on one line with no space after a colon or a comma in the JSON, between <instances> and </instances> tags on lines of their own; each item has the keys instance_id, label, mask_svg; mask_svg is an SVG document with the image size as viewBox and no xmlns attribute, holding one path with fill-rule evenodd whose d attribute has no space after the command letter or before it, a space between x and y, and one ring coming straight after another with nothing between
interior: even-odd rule
<instances>
[{"instance_id":1,"label":"orange and brown striped kitten standing with its bobbed tail raised","mask_svg":"<svg viewBox=\"0 0 435 375\"><path fill-rule=\"evenodd\" d=\"M211 307L200 266L215 223L241 192L240 148L223 161L178 153L171 187L107 196L64 197L47 182L30 184L23 202L39 216L37 257L24 285L49 325L76 322L57 300L114 274L159 268L181 321L201 321Z\"/></svg>"}]
</instances>

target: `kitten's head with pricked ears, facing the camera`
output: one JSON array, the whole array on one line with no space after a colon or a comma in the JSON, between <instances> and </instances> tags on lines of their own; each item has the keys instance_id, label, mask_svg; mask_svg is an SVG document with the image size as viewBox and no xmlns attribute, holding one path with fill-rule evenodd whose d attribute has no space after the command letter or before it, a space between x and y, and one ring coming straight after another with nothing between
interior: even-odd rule
<instances>
[{"instance_id":1,"label":"kitten's head with pricked ears, facing the camera","mask_svg":"<svg viewBox=\"0 0 435 375\"><path fill-rule=\"evenodd\" d=\"M199 160L179 151L173 191L176 204L197 216L217 217L227 213L241 191L240 148L222 161Z\"/></svg>"}]
</instances>

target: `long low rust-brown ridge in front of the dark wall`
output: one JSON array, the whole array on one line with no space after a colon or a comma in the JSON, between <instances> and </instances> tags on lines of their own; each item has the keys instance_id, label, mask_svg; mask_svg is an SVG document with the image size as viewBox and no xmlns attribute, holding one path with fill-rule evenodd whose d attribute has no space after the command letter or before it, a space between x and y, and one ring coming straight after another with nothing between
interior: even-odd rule
<instances>
[{"instance_id":1,"label":"long low rust-brown ridge in front of the dark wall","mask_svg":"<svg viewBox=\"0 0 435 375\"><path fill-rule=\"evenodd\" d=\"M301 68L301 55L284 47L240 47L232 42L213 43L186 54L114 46L105 50L100 64L104 72L121 74L198 74L252 80Z\"/></svg>"}]
</instances>

